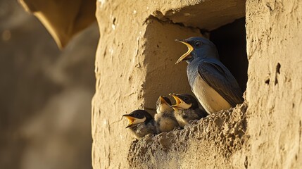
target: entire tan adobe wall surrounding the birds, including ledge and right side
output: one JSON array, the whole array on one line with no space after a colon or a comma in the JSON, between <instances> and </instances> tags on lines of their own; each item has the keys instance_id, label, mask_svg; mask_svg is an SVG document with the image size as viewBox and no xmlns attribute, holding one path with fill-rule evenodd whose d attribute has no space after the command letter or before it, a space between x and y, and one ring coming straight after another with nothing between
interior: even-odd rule
<instances>
[{"instance_id":1,"label":"entire tan adobe wall surrounding the birds, including ledge and right side","mask_svg":"<svg viewBox=\"0 0 302 169\"><path fill-rule=\"evenodd\" d=\"M298 3L247 1L245 13L245 1L97 1L101 37L92 101L93 167L297 167L302 110ZM201 36L196 27L213 30L245 15L245 103L184 130L133 142L123 114L138 108L154 113L160 94L191 92L186 64L174 64L187 49L174 39Z\"/></svg>"}]
</instances>

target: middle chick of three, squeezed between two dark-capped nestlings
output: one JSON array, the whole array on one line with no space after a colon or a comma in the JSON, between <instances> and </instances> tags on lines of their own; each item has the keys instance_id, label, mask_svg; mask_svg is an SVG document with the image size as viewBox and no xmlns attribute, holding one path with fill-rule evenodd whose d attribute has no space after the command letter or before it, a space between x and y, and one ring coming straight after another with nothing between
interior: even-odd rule
<instances>
[{"instance_id":1,"label":"middle chick of three, squeezed between two dark-capped nestlings","mask_svg":"<svg viewBox=\"0 0 302 169\"><path fill-rule=\"evenodd\" d=\"M174 111L171 106L171 101L168 97L159 96L156 102L156 128L158 132L170 132L178 126L174 116Z\"/></svg>"}]
</instances>

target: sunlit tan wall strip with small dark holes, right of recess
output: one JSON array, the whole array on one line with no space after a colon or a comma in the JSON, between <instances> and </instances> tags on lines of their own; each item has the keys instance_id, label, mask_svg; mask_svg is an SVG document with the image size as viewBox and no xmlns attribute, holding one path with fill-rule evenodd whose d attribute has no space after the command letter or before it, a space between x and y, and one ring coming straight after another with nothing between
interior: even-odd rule
<instances>
[{"instance_id":1,"label":"sunlit tan wall strip with small dark holes, right of recess","mask_svg":"<svg viewBox=\"0 0 302 169\"><path fill-rule=\"evenodd\" d=\"M301 168L302 1L247 1L251 168Z\"/></svg>"}]
</instances>

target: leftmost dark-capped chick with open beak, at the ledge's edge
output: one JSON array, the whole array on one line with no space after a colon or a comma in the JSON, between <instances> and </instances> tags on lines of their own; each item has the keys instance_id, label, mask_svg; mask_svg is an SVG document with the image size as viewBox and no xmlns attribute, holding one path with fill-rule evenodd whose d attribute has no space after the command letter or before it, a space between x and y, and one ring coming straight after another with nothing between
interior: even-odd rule
<instances>
[{"instance_id":1,"label":"leftmost dark-capped chick with open beak, at the ledge's edge","mask_svg":"<svg viewBox=\"0 0 302 169\"><path fill-rule=\"evenodd\" d=\"M132 111L130 114L122 115L122 117L129 120L129 125L126 128L130 128L132 133L138 139L146 136L147 134L157 134L156 122L153 117L144 110Z\"/></svg>"}]
</instances>

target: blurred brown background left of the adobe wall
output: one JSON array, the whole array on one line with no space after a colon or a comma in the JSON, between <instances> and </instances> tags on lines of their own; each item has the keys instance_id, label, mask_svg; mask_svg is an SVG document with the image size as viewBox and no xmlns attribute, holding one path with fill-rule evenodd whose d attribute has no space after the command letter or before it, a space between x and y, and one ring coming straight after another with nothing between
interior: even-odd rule
<instances>
[{"instance_id":1,"label":"blurred brown background left of the adobe wall","mask_svg":"<svg viewBox=\"0 0 302 169\"><path fill-rule=\"evenodd\" d=\"M0 6L0 168L92 168L96 23L59 51L17 1Z\"/></svg>"}]
</instances>

